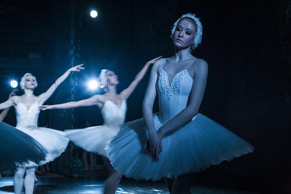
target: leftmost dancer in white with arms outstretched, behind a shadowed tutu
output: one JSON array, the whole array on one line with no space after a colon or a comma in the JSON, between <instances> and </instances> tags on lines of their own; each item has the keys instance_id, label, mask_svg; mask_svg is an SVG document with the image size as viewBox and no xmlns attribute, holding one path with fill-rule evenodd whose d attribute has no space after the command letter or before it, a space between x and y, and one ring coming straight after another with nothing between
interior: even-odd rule
<instances>
[{"instance_id":1,"label":"leftmost dancer in white with arms outstretched, behind a shadowed tutu","mask_svg":"<svg viewBox=\"0 0 291 194\"><path fill-rule=\"evenodd\" d=\"M40 113L38 106L47 101L56 88L69 76L71 72L79 72L82 69L84 69L82 65L71 67L60 78L58 78L45 93L39 96L35 96L33 94L34 89L37 87L36 78L32 74L26 73L20 81L20 87L24 94L21 96L13 96L0 104L0 109L6 109L11 106L15 107L17 118L16 128L31 135L35 140L47 148L49 154L46 162L53 161L56 157L59 157L65 151L69 139L65 136L65 132L63 131L49 128L39 128L37 126L37 120ZM16 194L20 194L22 191L24 173L25 193L33 193L36 166L37 165L35 163L31 162L25 167L19 166L17 168L14 176L14 191Z\"/></svg>"}]
</instances>

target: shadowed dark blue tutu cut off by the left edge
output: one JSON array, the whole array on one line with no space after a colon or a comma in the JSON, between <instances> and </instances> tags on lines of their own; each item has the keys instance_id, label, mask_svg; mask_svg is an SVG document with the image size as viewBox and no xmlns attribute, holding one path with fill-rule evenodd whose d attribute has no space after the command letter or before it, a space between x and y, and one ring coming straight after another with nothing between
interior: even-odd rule
<instances>
[{"instance_id":1,"label":"shadowed dark blue tutu cut off by the left edge","mask_svg":"<svg viewBox=\"0 0 291 194\"><path fill-rule=\"evenodd\" d=\"M44 164L47 149L30 135L0 122L0 172L14 172L30 162Z\"/></svg>"}]
</instances>

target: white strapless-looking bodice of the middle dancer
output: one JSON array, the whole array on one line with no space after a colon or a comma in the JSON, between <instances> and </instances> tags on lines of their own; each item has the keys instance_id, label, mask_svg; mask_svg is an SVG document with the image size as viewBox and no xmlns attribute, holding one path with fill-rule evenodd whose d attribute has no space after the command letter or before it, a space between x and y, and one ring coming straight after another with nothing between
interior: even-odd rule
<instances>
[{"instance_id":1,"label":"white strapless-looking bodice of the middle dancer","mask_svg":"<svg viewBox=\"0 0 291 194\"><path fill-rule=\"evenodd\" d=\"M114 104L113 101L107 100L101 110L104 124L109 128L118 128L125 122L127 111L126 100L122 100L120 107Z\"/></svg>"}]
</instances>

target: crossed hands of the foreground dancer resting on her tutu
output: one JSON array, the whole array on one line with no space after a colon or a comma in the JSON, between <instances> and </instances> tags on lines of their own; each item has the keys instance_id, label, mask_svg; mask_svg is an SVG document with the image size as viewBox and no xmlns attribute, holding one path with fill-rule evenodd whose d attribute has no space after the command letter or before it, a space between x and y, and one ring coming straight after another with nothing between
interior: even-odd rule
<instances>
[{"instance_id":1,"label":"crossed hands of the foreground dancer resting on her tutu","mask_svg":"<svg viewBox=\"0 0 291 194\"><path fill-rule=\"evenodd\" d=\"M157 133L149 136L146 145L143 147L145 153L151 153L154 160L159 160L159 151L162 152L162 141Z\"/></svg>"}]
</instances>

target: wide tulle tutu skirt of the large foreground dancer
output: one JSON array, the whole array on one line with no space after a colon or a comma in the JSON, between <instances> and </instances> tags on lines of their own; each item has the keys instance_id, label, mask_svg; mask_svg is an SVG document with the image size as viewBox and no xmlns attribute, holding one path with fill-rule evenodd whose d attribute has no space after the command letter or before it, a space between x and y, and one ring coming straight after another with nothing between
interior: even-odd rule
<instances>
[{"instance_id":1,"label":"wide tulle tutu skirt of the large foreground dancer","mask_svg":"<svg viewBox=\"0 0 291 194\"><path fill-rule=\"evenodd\" d=\"M162 123L153 115L156 130ZM213 164L230 161L254 150L239 136L203 114L162 139L162 152L154 161L142 147L148 140L143 118L125 123L106 147L116 171L128 178L159 180L162 177L205 170Z\"/></svg>"}]
</instances>

